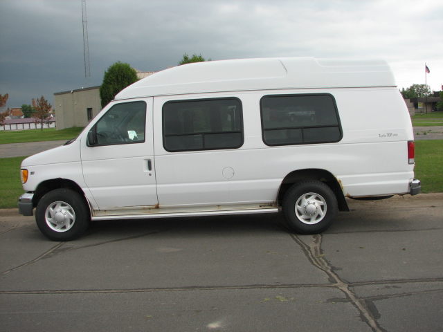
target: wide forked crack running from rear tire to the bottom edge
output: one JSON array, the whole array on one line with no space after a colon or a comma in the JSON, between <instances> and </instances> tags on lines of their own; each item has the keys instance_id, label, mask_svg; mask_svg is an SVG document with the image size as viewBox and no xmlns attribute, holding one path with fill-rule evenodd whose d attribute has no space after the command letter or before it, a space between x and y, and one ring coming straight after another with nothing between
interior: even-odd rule
<instances>
[{"instance_id":1,"label":"wide forked crack running from rear tire to the bottom edge","mask_svg":"<svg viewBox=\"0 0 443 332\"><path fill-rule=\"evenodd\" d=\"M329 262L324 259L324 255L321 250L321 241L323 239L321 234L316 234L312 236L312 243L308 245L303 242L296 234L291 233L291 237L298 246L305 253L305 256L309 262L319 270L322 270L328 276L329 282L338 290L340 290L348 302L350 302L360 313L361 320L368 324L370 329L374 332L386 332L385 329L381 328L379 322L377 322L377 317L379 316L378 311L375 312L374 306L368 306L365 299L358 297L350 289L350 284L344 282L333 270L333 267L329 265ZM371 310L372 309L372 310ZM375 308L376 309L376 308Z\"/></svg>"}]
</instances>

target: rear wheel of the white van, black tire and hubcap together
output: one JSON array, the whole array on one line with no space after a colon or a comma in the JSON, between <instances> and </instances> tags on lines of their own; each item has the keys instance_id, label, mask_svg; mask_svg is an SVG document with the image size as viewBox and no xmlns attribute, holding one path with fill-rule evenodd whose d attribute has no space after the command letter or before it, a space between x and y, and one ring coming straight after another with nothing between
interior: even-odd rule
<instances>
[{"instance_id":1,"label":"rear wheel of the white van, black tire and hubcap together","mask_svg":"<svg viewBox=\"0 0 443 332\"><path fill-rule=\"evenodd\" d=\"M325 183L310 180L296 183L283 199L284 219L300 234L318 234L329 228L338 212L334 192Z\"/></svg>"}]
</instances>

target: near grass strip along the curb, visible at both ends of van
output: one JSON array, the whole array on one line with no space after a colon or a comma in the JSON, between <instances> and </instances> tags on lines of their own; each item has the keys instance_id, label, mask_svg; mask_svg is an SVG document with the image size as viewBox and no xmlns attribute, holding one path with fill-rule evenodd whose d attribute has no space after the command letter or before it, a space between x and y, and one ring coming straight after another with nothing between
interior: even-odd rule
<instances>
[{"instance_id":1,"label":"near grass strip along the curb, visible at both ends of van","mask_svg":"<svg viewBox=\"0 0 443 332\"><path fill-rule=\"evenodd\" d=\"M17 208L24 193L20 180L24 158L0 158L0 209ZM415 177L422 181L422 192L443 192L443 140L415 142Z\"/></svg>"}]
</instances>

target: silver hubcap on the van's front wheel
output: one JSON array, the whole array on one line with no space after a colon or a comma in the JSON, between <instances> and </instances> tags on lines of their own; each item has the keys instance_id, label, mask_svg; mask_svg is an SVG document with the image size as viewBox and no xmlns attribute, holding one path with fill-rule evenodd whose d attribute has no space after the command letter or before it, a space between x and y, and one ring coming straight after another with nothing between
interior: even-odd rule
<instances>
[{"instance_id":1,"label":"silver hubcap on the van's front wheel","mask_svg":"<svg viewBox=\"0 0 443 332\"><path fill-rule=\"evenodd\" d=\"M75 223L75 212L68 203L57 201L46 208L45 220L51 230L66 232Z\"/></svg>"}]
</instances>

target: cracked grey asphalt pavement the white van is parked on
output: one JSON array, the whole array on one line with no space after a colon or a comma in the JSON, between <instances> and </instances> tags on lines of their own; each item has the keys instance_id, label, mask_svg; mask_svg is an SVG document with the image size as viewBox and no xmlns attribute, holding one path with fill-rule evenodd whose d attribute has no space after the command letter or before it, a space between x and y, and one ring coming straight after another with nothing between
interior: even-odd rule
<instances>
[{"instance_id":1,"label":"cracked grey asphalt pavement the white van is parked on","mask_svg":"<svg viewBox=\"0 0 443 332\"><path fill-rule=\"evenodd\" d=\"M94 222L48 241L0 210L0 331L443 331L443 194L280 214Z\"/></svg>"}]
</instances>

